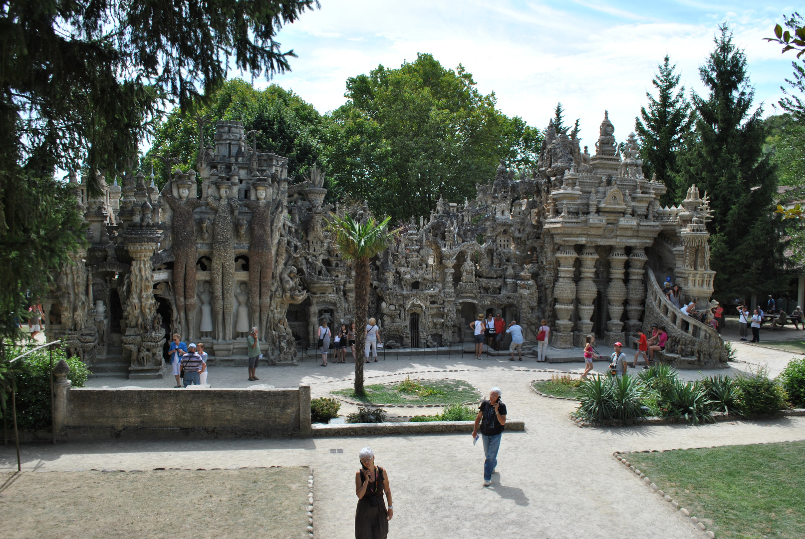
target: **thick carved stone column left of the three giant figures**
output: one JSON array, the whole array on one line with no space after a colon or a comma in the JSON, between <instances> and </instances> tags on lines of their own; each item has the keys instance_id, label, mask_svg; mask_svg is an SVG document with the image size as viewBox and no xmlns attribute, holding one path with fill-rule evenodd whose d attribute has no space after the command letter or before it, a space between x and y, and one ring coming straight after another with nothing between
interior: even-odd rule
<instances>
[{"instance_id":1,"label":"thick carved stone column left of the three giant figures","mask_svg":"<svg viewBox=\"0 0 805 539\"><path fill-rule=\"evenodd\" d=\"M124 238L126 251L132 258L130 291L124 311L126 334L122 336L123 348L130 352L130 378L162 378L165 370L161 351L155 353L157 347L150 342L158 316L151 256L159 245L160 232L159 226L132 226ZM161 343L158 348L161 350Z\"/></svg>"}]
</instances>

